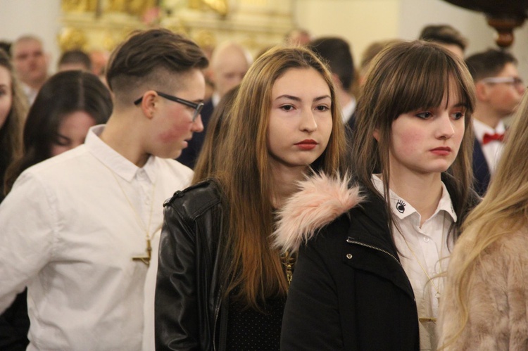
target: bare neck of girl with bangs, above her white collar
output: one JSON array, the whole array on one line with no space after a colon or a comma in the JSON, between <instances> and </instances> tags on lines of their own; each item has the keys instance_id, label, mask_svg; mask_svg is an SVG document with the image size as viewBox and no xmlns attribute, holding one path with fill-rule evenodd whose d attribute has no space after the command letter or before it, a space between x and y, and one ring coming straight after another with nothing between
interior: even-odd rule
<instances>
[{"instance_id":1,"label":"bare neck of girl with bangs, above her white collar","mask_svg":"<svg viewBox=\"0 0 528 351\"><path fill-rule=\"evenodd\" d=\"M441 174L405 174L401 177L391 170L389 188L420 213L421 226L438 208L442 197Z\"/></svg>"}]
</instances>

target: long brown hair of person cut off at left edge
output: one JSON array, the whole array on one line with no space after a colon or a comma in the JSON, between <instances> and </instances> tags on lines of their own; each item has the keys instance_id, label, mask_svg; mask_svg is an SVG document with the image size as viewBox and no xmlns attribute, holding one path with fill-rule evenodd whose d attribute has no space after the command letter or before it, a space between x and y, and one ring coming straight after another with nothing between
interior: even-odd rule
<instances>
[{"instance_id":1,"label":"long brown hair of person cut off at left edge","mask_svg":"<svg viewBox=\"0 0 528 351\"><path fill-rule=\"evenodd\" d=\"M22 155L22 129L24 125L25 116L27 114L27 101L25 95L15 77L13 65L7 53L0 49L0 67L8 70L11 77L11 109L6 117L4 125L0 125L0 189L3 188L4 174L15 159ZM0 199L3 193L1 191Z\"/></svg>"}]
</instances>

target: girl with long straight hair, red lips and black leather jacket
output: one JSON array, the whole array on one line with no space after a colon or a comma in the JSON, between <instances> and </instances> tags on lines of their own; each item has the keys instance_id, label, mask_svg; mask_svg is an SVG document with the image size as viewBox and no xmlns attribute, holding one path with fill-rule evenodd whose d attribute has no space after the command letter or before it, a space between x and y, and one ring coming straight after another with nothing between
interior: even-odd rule
<instances>
[{"instance_id":1,"label":"girl with long straight hair, red lips and black leather jacket","mask_svg":"<svg viewBox=\"0 0 528 351\"><path fill-rule=\"evenodd\" d=\"M246 73L211 179L165 203L157 350L279 350L294 258L275 212L313 172L344 172L332 78L307 49L275 48Z\"/></svg>"}]
</instances>

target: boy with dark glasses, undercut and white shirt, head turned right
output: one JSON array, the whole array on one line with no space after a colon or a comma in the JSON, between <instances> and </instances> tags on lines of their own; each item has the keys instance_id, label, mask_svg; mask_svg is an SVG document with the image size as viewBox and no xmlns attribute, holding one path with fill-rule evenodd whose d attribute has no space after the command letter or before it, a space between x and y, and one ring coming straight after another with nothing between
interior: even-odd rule
<instances>
[{"instance_id":1,"label":"boy with dark glasses, undercut and white shirt, head turned right","mask_svg":"<svg viewBox=\"0 0 528 351\"><path fill-rule=\"evenodd\" d=\"M113 113L84 145L30 167L0 206L0 312L28 288L28 350L153 350L163 201L203 125L199 47L168 30L113 52Z\"/></svg>"}]
</instances>

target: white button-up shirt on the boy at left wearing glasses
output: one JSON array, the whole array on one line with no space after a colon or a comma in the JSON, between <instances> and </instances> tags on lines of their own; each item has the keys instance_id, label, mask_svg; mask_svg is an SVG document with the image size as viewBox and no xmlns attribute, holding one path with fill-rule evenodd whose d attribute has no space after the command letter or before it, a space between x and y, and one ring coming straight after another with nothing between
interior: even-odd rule
<instances>
[{"instance_id":1,"label":"white button-up shirt on the boy at left wearing glasses","mask_svg":"<svg viewBox=\"0 0 528 351\"><path fill-rule=\"evenodd\" d=\"M192 171L153 156L139 168L102 130L23 172L0 205L0 311L27 285L28 350L154 349L163 201ZM150 218L147 267L132 257L146 254Z\"/></svg>"}]
</instances>

